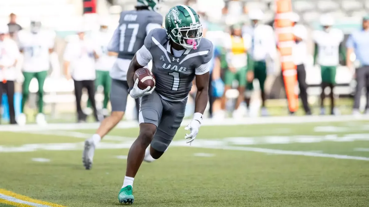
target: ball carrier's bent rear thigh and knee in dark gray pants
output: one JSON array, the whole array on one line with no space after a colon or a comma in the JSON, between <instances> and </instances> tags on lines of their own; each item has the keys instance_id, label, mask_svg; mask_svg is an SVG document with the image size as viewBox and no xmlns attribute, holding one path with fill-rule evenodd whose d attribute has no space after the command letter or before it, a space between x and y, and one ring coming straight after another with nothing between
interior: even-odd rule
<instances>
[{"instance_id":1,"label":"ball carrier's bent rear thigh and knee in dark gray pants","mask_svg":"<svg viewBox=\"0 0 369 207\"><path fill-rule=\"evenodd\" d=\"M150 146L152 158L159 159L167 150L182 123L185 110L186 102L163 102L163 114Z\"/></svg>"}]
</instances>

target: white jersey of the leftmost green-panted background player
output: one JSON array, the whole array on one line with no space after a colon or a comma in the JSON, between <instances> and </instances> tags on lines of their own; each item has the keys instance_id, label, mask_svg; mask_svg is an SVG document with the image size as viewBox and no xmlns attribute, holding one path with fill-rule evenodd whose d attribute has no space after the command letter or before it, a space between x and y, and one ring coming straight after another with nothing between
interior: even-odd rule
<instances>
[{"instance_id":1,"label":"white jersey of the leftmost green-panted background player","mask_svg":"<svg viewBox=\"0 0 369 207\"><path fill-rule=\"evenodd\" d=\"M49 70L49 49L54 48L55 32L41 30L38 33L18 32L19 48L23 50L23 71L41 72Z\"/></svg>"}]
</instances>

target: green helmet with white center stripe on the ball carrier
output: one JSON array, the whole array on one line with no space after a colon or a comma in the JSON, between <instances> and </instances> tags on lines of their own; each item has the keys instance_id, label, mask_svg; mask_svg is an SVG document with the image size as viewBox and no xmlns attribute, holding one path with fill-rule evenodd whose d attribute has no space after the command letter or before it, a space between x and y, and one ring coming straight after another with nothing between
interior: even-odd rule
<instances>
[{"instance_id":1,"label":"green helmet with white center stripe on the ball carrier","mask_svg":"<svg viewBox=\"0 0 369 207\"><path fill-rule=\"evenodd\" d=\"M203 26L193 8L186 5L172 7L164 18L166 33L173 42L186 49L197 49L203 37Z\"/></svg>"}]
</instances>

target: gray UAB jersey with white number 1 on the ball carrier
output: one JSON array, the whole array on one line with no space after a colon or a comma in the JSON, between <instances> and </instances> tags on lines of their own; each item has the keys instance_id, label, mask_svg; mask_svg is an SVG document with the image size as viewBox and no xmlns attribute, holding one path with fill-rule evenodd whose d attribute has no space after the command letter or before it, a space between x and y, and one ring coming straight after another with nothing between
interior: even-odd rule
<instances>
[{"instance_id":1,"label":"gray UAB jersey with white number 1 on the ball carrier","mask_svg":"<svg viewBox=\"0 0 369 207\"><path fill-rule=\"evenodd\" d=\"M186 99L195 74L209 71L207 63L213 56L213 44L201 38L197 49L188 49L182 56L173 56L165 29L153 29L145 39L152 56L152 72L156 78L155 91L170 101ZM206 68L204 68L206 67Z\"/></svg>"}]
</instances>

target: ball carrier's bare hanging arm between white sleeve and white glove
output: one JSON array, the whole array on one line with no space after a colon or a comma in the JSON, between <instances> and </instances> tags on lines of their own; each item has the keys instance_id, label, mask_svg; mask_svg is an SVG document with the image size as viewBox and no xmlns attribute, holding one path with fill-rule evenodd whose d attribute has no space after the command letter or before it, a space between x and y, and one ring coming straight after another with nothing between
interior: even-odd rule
<instances>
[{"instance_id":1,"label":"ball carrier's bare hanging arm between white sleeve and white glove","mask_svg":"<svg viewBox=\"0 0 369 207\"><path fill-rule=\"evenodd\" d=\"M208 102L209 76L209 72L195 76L197 87L195 98L195 113L204 114Z\"/></svg>"}]
</instances>

